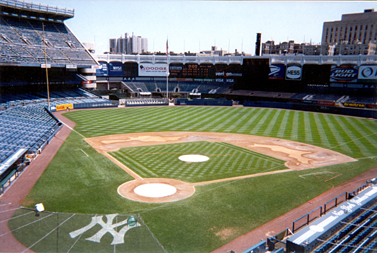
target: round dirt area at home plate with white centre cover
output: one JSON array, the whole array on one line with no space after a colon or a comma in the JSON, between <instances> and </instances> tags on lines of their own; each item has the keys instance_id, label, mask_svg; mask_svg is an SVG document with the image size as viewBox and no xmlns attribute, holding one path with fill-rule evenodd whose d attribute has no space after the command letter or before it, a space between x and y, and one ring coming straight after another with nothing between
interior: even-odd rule
<instances>
[{"instance_id":1,"label":"round dirt area at home plate with white centre cover","mask_svg":"<svg viewBox=\"0 0 377 253\"><path fill-rule=\"evenodd\" d=\"M175 179L142 179L124 183L118 187L118 194L139 202L173 202L192 196L195 187Z\"/></svg>"}]
</instances>

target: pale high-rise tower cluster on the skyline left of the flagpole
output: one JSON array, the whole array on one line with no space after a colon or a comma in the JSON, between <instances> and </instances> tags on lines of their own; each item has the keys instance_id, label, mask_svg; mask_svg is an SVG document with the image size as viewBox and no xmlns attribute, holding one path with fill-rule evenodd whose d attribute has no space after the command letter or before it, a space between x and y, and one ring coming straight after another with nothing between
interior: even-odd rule
<instances>
[{"instance_id":1,"label":"pale high-rise tower cluster on the skyline left of the flagpole","mask_svg":"<svg viewBox=\"0 0 377 253\"><path fill-rule=\"evenodd\" d=\"M118 39L110 39L110 53L116 54L140 54L148 51L148 39L140 36L129 36L125 33Z\"/></svg>"}]
</instances>

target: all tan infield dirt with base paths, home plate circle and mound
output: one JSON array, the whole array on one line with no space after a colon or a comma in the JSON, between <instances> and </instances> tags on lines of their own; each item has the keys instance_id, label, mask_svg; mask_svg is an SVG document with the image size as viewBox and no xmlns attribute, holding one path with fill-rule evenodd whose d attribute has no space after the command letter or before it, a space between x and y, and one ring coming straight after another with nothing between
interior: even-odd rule
<instances>
[{"instance_id":1,"label":"all tan infield dirt with base paths, home plate circle and mound","mask_svg":"<svg viewBox=\"0 0 377 253\"><path fill-rule=\"evenodd\" d=\"M238 180L243 178L259 177L276 173L290 172L294 170L305 170L307 168L332 165L343 162L356 161L356 159L344 154L309 145L296 141L282 140L278 138L262 137L245 134L214 133L214 132L146 132L106 135L84 139L88 144L102 153L118 166L123 168L135 180L127 182L118 188L118 193L125 198L141 202L171 202L182 200L192 196L195 186L206 185L217 182ZM108 152L119 150L122 147L147 146L156 144L184 143L193 141L227 142L236 146L250 149L272 157L286 160L287 170L265 172L260 174L246 175L236 178L220 179L208 182L189 184L171 179L143 179L132 168L127 167ZM208 159L205 155L189 154L181 155L179 159L187 162L204 162ZM145 184L156 184L152 187L142 187ZM175 188L175 192L168 196L151 197L154 193L140 194L140 189L144 191L164 191L167 186ZM141 188L140 188L141 187ZM135 190L136 189L136 190Z\"/></svg>"}]
</instances>

